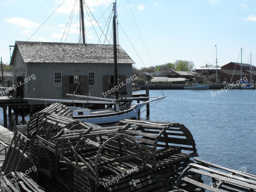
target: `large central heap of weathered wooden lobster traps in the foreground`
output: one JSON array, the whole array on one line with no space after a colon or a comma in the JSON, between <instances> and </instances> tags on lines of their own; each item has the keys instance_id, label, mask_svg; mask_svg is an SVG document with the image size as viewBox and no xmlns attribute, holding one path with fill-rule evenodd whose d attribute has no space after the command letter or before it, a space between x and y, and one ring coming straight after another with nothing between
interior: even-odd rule
<instances>
[{"instance_id":1,"label":"large central heap of weathered wooden lobster traps in the foreground","mask_svg":"<svg viewBox=\"0 0 256 192\"><path fill-rule=\"evenodd\" d=\"M65 105L52 104L30 118L26 132L16 128L27 141L21 156L36 166L34 180L45 191L169 191L197 156L182 124L124 120L100 127L70 117ZM186 176L201 182L199 174Z\"/></svg>"}]
</instances>

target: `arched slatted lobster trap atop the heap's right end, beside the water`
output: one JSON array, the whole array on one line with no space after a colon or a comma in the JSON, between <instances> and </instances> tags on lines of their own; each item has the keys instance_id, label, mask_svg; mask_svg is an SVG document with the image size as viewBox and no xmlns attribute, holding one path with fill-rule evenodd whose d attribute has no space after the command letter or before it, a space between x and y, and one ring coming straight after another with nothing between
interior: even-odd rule
<instances>
[{"instance_id":1,"label":"arched slatted lobster trap atop the heap's right end, beside the water","mask_svg":"<svg viewBox=\"0 0 256 192\"><path fill-rule=\"evenodd\" d=\"M127 123L133 130L124 133L140 145L147 165L153 170L197 156L193 136L183 124L124 120L116 125Z\"/></svg>"}]
</instances>

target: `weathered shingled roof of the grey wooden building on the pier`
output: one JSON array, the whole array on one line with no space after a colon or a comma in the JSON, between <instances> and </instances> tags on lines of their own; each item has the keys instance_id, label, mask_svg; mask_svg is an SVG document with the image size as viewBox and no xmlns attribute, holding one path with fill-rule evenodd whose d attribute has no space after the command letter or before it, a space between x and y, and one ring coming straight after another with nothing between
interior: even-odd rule
<instances>
[{"instance_id":1,"label":"weathered shingled roof of the grey wooden building on the pier","mask_svg":"<svg viewBox=\"0 0 256 192\"><path fill-rule=\"evenodd\" d=\"M17 47L24 62L114 63L113 45L16 41ZM117 55L118 63L134 63L120 45Z\"/></svg>"}]
</instances>

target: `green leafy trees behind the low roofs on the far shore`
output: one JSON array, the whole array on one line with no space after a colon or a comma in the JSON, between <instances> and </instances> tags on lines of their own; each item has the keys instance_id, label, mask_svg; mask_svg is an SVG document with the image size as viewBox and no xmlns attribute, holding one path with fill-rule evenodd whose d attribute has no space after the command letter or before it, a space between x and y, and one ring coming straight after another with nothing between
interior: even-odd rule
<instances>
[{"instance_id":1,"label":"green leafy trees behind the low roofs on the far shore","mask_svg":"<svg viewBox=\"0 0 256 192\"><path fill-rule=\"evenodd\" d=\"M166 63L162 65L141 67L138 69L135 64L132 65L132 74L140 75L143 72L153 73L155 71L162 71L164 76L167 76L172 71L192 71L195 68L193 61L176 60L174 63Z\"/></svg>"}]
</instances>

